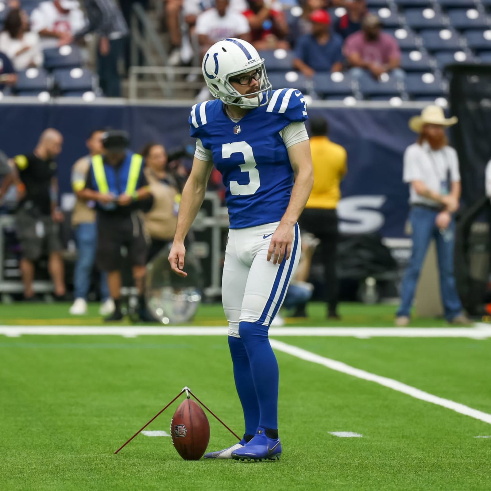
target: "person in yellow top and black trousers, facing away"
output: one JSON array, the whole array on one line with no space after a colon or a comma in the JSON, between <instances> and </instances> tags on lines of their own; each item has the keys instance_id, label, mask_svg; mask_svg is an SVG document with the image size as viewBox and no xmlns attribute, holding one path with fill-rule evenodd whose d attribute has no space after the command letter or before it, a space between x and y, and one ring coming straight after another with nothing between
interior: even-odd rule
<instances>
[{"instance_id":1,"label":"person in yellow top and black trousers, facing away","mask_svg":"<svg viewBox=\"0 0 491 491\"><path fill-rule=\"evenodd\" d=\"M310 119L310 151L314 166L314 186L305 205L299 224L302 232L320 239L324 265L327 317L339 319L337 313L338 281L336 278L336 246L338 218L336 207L341 198L339 186L346 174L346 150L327 137L327 121L322 117ZM306 316L305 306L297 308L296 316Z\"/></svg>"}]
</instances>

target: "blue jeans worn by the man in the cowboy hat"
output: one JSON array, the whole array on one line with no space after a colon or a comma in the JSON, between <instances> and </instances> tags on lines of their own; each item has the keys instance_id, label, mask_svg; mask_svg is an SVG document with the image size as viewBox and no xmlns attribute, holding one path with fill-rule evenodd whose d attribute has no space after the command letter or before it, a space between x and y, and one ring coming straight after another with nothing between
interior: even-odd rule
<instances>
[{"instance_id":1,"label":"blue jeans worn by the man in the cowboy hat","mask_svg":"<svg viewBox=\"0 0 491 491\"><path fill-rule=\"evenodd\" d=\"M412 227L412 254L401 283L401 305L397 316L409 316L419 273L432 238L436 241L445 319L451 321L462 312L462 303L457 295L454 277L455 220L452 219L447 230L440 233L435 225L437 214L436 211L417 206L412 207L409 213Z\"/></svg>"}]
</instances>

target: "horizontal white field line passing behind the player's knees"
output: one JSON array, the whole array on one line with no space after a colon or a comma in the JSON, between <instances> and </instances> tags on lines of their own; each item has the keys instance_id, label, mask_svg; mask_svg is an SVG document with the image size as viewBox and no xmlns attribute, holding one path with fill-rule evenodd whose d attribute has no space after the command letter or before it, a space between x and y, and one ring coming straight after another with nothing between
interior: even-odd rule
<instances>
[{"instance_id":1,"label":"horizontal white field line passing behind the player's knees","mask_svg":"<svg viewBox=\"0 0 491 491\"><path fill-rule=\"evenodd\" d=\"M226 336L227 327L209 326L0 326L0 335L43 336ZM403 337L403 338L491 338L491 326L477 327L271 327L275 336Z\"/></svg>"}]
</instances>

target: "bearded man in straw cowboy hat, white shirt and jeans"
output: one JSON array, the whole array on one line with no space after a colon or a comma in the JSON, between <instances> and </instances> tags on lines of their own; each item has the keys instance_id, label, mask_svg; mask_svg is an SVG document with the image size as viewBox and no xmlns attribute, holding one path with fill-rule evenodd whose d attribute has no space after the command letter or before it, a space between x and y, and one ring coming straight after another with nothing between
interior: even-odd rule
<instances>
[{"instance_id":1,"label":"bearded man in straw cowboy hat, white shirt and jeans","mask_svg":"<svg viewBox=\"0 0 491 491\"><path fill-rule=\"evenodd\" d=\"M401 284L401 305L396 325L409 324L409 311L423 261L432 238L436 241L441 298L445 318L451 324L467 324L457 295L453 271L455 220L461 193L457 152L448 146L445 128L457 123L446 119L438 106L428 106L409 120L418 134L404 153L404 182L410 184L409 223L412 254Z\"/></svg>"}]
</instances>

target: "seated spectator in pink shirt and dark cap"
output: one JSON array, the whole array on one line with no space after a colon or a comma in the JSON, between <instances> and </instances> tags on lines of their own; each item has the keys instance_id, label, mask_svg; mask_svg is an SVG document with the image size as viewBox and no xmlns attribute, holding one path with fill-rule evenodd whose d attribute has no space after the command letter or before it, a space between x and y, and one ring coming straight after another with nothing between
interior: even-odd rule
<instances>
[{"instance_id":1,"label":"seated spectator in pink shirt and dark cap","mask_svg":"<svg viewBox=\"0 0 491 491\"><path fill-rule=\"evenodd\" d=\"M353 67L352 76L359 78L368 70L374 79L380 79L384 73L396 78L404 78L401 64L401 51L397 41L385 32L381 32L381 20L375 14L363 17L361 31L348 36L344 45L344 55Z\"/></svg>"}]
</instances>

